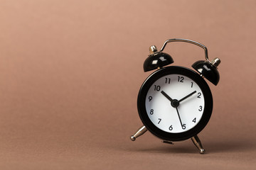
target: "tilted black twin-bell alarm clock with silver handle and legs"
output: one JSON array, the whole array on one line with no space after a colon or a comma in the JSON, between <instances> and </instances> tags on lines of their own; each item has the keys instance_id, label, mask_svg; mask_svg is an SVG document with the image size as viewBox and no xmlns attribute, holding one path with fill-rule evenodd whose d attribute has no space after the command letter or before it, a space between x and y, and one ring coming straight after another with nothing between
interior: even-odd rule
<instances>
[{"instance_id":1,"label":"tilted black twin-bell alarm clock with silver handle and legs","mask_svg":"<svg viewBox=\"0 0 256 170\"><path fill-rule=\"evenodd\" d=\"M174 62L172 57L162 52L169 42L189 42L202 47L206 60L192 64L192 69L179 66L165 67ZM186 39L170 39L164 42L158 52L156 46L149 47L150 55L144 62L144 72L156 69L142 84L137 99L139 118L144 124L131 136L131 140L149 130L165 143L191 138L203 154L198 133L206 127L213 111L213 96L205 79L217 85L220 80L215 58L208 60L205 45Z\"/></svg>"}]
</instances>

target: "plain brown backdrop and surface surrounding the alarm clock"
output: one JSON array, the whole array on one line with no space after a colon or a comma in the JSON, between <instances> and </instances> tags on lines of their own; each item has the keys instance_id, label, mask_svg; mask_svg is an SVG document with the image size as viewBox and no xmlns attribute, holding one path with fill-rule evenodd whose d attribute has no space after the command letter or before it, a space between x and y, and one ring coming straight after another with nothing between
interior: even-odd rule
<instances>
[{"instance_id":1,"label":"plain brown backdrop and surface surrounding the alarm clock","mask_svg":"<svg viewBox=\"0 0 256 170\"><path fill-rule=\"evenodd\" d=\"M256 1L0 1L0 169L255 169ZM162 144L137 93L148 47L220 57L213 115ZM173 65L203 60L166 46Z\"/></svg>"}]
</instances>

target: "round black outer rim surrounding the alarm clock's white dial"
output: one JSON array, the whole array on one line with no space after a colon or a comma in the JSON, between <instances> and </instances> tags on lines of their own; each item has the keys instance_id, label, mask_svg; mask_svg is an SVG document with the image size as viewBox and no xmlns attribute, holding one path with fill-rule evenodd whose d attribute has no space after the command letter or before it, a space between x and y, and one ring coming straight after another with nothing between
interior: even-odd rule
<instances>
[{"instance_id":1,"label":"round black outer rim surrounding the alarm clock's white dial","mask_svg":"<svg viewBox=\"0 0 256 170\"><path fill-rule=\"evenodd\" d=\"M198 84L198 86L201 88L201 91L203 92L205 107L203 110L202 118L195 127L191 128L186 132L165 132L164 130L157 128L156 125L154 125L154 123L151 122L148 114L146 113L145 101L146 94L149 91L149 88L151 87L152 84L154 84L156 80L169 74L181 74L183 76L189 77L190 79L195 81L196 84ZM139 90L137 108L142 123L146 126L146 129L149 130L153 135L156 135L156 137L159 137L163 140L181 141L187 140L197 135L199 132L201 132L201 130L203 130L203 128L206 127L208 121L210 120L211 113L213 111L213 96L210 92L208 84L199 74L186 67L169 66L156 70L156 72L150 74L149 77L144 81L141 89Z\"/></svg>"}]
</instances>

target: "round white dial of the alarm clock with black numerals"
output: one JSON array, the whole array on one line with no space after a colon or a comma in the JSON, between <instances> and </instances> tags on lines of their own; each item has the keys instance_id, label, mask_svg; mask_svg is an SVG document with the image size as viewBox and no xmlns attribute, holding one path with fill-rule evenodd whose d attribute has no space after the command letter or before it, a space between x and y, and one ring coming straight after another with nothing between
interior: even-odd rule
<instances>
[{"instance_id":1,"label":"round white dial of the alarm clock with black numerals","mask_svg":"<svg viewBox=\"0 0 256 170\"><path fill-rule=\"evenodd\" d=\"M198 124L205 100L195 81L180 74L169 74L151 85L145 106L149 119L157 128L179 133Z\"/></svg>"}]
</instances>

